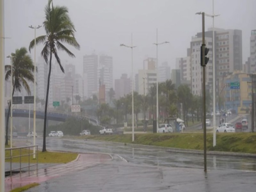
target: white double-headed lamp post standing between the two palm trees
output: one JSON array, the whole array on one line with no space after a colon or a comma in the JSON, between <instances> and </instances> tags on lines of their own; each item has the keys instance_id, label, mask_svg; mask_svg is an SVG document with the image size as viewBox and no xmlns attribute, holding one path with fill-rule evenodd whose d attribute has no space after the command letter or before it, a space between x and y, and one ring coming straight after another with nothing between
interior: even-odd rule
<instances>
[{"instance_id":1,"label":"white double-headed lamp post standing between the two palm trees","mask_svg":"<svg viewBox=\"0 0 256 192\"><path fill-rule=\"evenodd\" d=\"M36 29L39 29L40 25L36 26L29 26L31 29L35 29L35 54L34 54L34 121L33 121L33 145L36 145ZM33 148L33 159L36 158L36 147Z\"/></svg>"}]
</instances>

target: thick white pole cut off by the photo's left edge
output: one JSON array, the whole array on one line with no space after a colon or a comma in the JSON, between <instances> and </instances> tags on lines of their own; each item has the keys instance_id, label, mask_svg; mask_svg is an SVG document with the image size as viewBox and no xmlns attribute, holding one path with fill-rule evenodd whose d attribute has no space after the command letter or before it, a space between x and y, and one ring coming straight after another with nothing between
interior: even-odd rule
<instances>
[{"instance_id":1,"label":"thick white pole cut off by the photo's left edge","mask_svg":"<svg viewBox=\"0 0 256 192\"><path fill-rule=\"evenodd\" d=\"M0 191L4 191L4 0L0 0Z\"/></svg>"}]
</instances>

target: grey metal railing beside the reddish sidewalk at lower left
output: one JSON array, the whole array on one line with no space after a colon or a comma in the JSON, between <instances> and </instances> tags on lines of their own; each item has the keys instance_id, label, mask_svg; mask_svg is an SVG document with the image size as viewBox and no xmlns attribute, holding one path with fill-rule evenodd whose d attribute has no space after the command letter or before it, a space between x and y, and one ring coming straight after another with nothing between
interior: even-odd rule
<instances>
[{"instance_id":1,"label":"grey metal railing beside the reddish sidewalk at lower left","mask_svg":"<svg viewBox=\"0 0 256 192\"><path fill-rule=\"evenodd\" d=\"M36 147L36 152L35 152L35 154L36 154L36 164L31 164L30 163L30 156L34 155L34 152L33 152L34 147ZM24 153L24 150L23 150L23 154L22 154L21 149L27 149L27 150L25 150L25 153ZM32 149L32 153L30 152L30 149ZM15 150L19 151L19 155L16 154L15 156L13 156L13 152ZM19 170L20 173L21 173L22 169L24 169L24 168L28 168L28 174L30 174L30 167L33 167L33 166L36 166L36 172L37 172L37 170L38 170L38 145L30 145L30 146L14 147L14 148L5 148L5 151L10 151L10 156L5 157L5 160L10 159L10 176L12 176L13 171ZM28 156L28 166L21 166L21 157L24 157L24 156ZM20 167L12 169L12 163L13 163L12 161L15 158L19 158Z\"/></svg>"}]
</instances>

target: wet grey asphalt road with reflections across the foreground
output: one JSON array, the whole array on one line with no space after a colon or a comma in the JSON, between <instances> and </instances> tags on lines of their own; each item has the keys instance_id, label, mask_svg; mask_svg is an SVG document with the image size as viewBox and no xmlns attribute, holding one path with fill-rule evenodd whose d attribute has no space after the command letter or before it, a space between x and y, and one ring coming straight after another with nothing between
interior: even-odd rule
<instances>
[{"instance_id":1,"label":"wet grey asphalt road with reflections across the foreground","mask_svg":"<svg viewBox=\"0 0 256 192\"><path fill-rule=\"evenodd\" d=\"M42 145L42 139L37 139ZM167 148L93 140L47 139L47 149L109 153L113 160L45 181L43 191L255 191L256 159L167 152Z\"/></svg>"}]
</instances>

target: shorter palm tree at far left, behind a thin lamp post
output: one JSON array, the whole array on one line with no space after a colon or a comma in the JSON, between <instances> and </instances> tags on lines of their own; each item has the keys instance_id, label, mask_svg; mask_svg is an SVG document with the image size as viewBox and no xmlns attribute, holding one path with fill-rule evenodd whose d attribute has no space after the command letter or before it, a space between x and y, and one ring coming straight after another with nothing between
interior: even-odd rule
<instances>
[{"instance_id":1,"label":"shorter palm tree at far left, behind a thin lamp post","mask_svg":"<svg viewBox=\"0 0 256 192\"><path fill-rule=\"evenodd\" d=\"M28 51L25 47L16 49L15 53L12 53L12 77L11 77L11 65L5 65L5 80L8 80L9 77L12 78L12 96L15 91L21 91L22 86L30 95L30 88L28 81L34 82L34 65L30 56L27 54ZM8 121L11 110L11 102L9 104L7 120L6 120L6 138L5 145L8 145Z\"/></svg>"}]
</instances>

